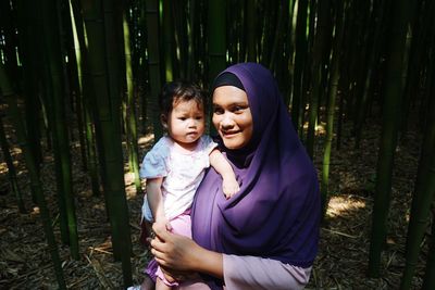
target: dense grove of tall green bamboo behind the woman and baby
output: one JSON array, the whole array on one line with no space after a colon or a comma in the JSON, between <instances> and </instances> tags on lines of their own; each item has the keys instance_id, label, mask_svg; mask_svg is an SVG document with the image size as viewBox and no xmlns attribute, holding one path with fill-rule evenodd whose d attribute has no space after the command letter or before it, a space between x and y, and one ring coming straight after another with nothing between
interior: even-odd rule
<instances>
[{"instance_id":1,"label":"dense grove of tall green bamboo behind the woman and baby","mask_svg":"<svg viewBox=\"0 0 435 290\"><path fill-rule=\"evenodd\" d=\"M420 110L423 143L414 184L406 265L400 289L410 289L435 193L435 3L428 0L9 0L0 7L2 115L13 124L25 156L32 200L40 217L61 289L58 243L79 259L71 159L80 157L94 196L105 202L113 254L132 283L132 241L124 162L135 175L138 137L162 135L158 92L187 78L208 88L228 64L253 61L275 75L307 151L324 138L319 166L323 211L328 201L332 147L343 124L353 125L356 149L373 106L382 110L371 244L366 268L378 277L388 229L391 171L412 108ZM324 109L324 110L323 110ZM320 119L324 137L315 135ZM0 123L11 192L25 212L10 144ZM307 125L304 127L304 125ZM80 156L71 155L72 138ZM54 156L59 227L53 235L39 168ZM101 191L101 192L100 192ZM423 288L435 289L435 240Z\"/></svg>"}]
</instances>

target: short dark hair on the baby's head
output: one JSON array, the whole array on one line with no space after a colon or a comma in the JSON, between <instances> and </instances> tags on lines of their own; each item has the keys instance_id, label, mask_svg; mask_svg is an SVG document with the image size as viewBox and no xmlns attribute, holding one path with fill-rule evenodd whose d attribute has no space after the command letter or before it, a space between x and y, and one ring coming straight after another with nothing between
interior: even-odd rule
<instances>
[{"instance_id":1,"label":"short dark hair on the baby's head","mask_svg":"<svg viewBox=\"0 0 435 290\"><path fill-rule=\"evenodd\" d=\"M206 97L201 88L185 79L165 84L159 97L160 112L165 116L172 111L174 104L179 101L187 102L194 100L206 110Z\"/></svg>"}]
</instances>

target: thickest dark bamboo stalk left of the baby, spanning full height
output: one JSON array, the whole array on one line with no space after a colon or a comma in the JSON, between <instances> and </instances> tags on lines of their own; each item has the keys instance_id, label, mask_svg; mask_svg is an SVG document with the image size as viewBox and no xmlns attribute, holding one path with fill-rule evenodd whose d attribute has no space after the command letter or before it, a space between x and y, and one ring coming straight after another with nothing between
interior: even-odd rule
<instances>
[{"instance_id":1,"label":"thickest dark bamboo stalk left of the baby, spanning full height","mask_svg":"<svg viewBox=\"0 0 435 290\"><path fill-rule=\"evenodd\" d=\"M128 209L124 185L122 153L119 85L112 86L117 67L117 50L114 39L108 39L114 27L116 16L112 2L82 0L82 11L88 39L88 61L92 75L96 103L96 130L99 156L101 159L101 179L103 185L108 217L112 228L112 245L115 260L121 260L124 285L132 285L132 240L128 223ZM104 14L103 14L104 12ZM109 48L111 47L111 48ZM116 96L117 94L117 96ZM117 98L117 99L116 99Z\"/></svg>"}]
</instances>

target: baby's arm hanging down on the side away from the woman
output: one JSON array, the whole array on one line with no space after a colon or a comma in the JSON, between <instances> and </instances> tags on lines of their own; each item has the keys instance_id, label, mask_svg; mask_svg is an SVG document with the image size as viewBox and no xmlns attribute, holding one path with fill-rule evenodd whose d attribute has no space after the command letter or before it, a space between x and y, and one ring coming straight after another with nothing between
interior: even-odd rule
<instances>
[{"instance_id":1,"label":"baby's arm hanging down on the side away from the woman","mask_svg":"<svg viewBox=\"0 0 435 290\"><path fill-rule=\"evenodd\" d=\"M162 177L147 179L147 199L152 212L152 217L154 218L154 223L159 227L164 227L166 230L171 230L171 224L164 215L161 190L162 181Z\"/></svg>"}]
</instances>

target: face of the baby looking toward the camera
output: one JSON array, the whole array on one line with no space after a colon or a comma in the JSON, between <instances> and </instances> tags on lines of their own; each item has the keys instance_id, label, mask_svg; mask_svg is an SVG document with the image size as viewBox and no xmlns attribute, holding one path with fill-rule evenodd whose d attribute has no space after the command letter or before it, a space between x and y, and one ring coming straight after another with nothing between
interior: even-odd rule
<instances>
[{"instance_id":1,"label":"face of the baby looking toward the camera","mask_svg":"<svg viewBox=\"0 0 435 290\"><path fill-rule=\"evenodd\" d=\"M182 147L195 147L206 129L203 105L195 100L178 101L174 103L167 123L163 125L172 139Z\"/></svg>"}]
</instances>

